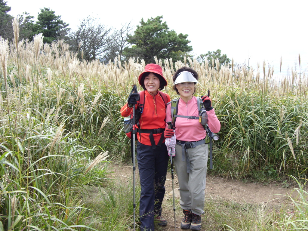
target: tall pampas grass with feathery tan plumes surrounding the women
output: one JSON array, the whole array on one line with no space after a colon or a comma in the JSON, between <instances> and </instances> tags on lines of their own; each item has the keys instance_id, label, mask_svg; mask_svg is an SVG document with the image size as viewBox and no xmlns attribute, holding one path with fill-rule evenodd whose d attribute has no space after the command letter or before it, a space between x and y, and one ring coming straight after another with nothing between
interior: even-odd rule
<instances>
[{"instance_id":1,"label":"tall pampas grass with feathery tan plumes surrounding the women","mask_svg":"<svg viewBox=\"0 0 308 231\"><path fill-rule=\"evenodd\" d=\"M39 34L33 42L19 41L16 22L14 34L12 43L0 39L0 231L129 230L132 194L126 193L132 187L115 197L107 166L130 160L119 111L146 63L80 61L63 40L43 44ZM278 81L265 62L219 67L216 60L213 68L190 58L156 63L171 98L172 75L184 65L199 74L197 95L211 92L222 125L211 174L252 181L292 175L299 185L291 215L265 214L266 227L257 218L245 226L240 217L226 216L221 230L307 229L307 70ZM83 201L83 185L106 188L101 209Z\"/></svg>"}]
</instances>

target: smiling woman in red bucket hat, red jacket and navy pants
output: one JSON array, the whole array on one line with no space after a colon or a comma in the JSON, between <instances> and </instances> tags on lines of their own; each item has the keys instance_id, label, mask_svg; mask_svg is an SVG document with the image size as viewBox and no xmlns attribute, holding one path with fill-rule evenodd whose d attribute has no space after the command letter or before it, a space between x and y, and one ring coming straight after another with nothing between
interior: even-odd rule
<instances>
[{"instance_id":1,"label":"smiling woman in red bucket hat, red jacket and navy pants","mask_svg":"<svg viewBox=\"0 0 308 231\"><path fill-rule=\"evenodd\" d=\"M167 86L160 65L150 63L138 79L144 89L144 107L137 127L137 162L140 177L140 230L154 231L154 217L158 225L167 225L161 216L161 204L165 194L165 180L168 167L168 152L164 130L166 103L170 96L159 91ZM164 94L164 95L163 95ZM165 102L166 101L166 102ZM140 102L143 103L143 102ZM121 108L121 115L132 113L132 107L139 101L128 97L128 103Z\"/></svg>"}]
</instances>

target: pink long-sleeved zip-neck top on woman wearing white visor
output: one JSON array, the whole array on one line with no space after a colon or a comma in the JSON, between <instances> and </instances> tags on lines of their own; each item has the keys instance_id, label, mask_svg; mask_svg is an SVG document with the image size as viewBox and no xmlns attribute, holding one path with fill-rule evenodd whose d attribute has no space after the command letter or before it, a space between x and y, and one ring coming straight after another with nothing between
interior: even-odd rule
<instances>
[{"instance_id":1,"label":"pink long-sleeved zip-neck top on woman wearing white visor","mask_svg":"<svg viewBox=\"0 0 308 231\"><path fill-rule=\"evenodd\" d=\"M199 116L199 110L197 105L197 98L193 96L191 100L185 103L181 98L179 99L178 115ZM212 132L217 133L220 131L220 122L215 114L214 109L207 111L208 125ZM172 121L171 118L171 103L167 105L166 122ZM166 128L168 124L166 123ZM206 136L206 132L196 119L176 118L175 123L175 135L177 140L182 141L198 141L202 140Z\"/></svg>"}]
</instances>

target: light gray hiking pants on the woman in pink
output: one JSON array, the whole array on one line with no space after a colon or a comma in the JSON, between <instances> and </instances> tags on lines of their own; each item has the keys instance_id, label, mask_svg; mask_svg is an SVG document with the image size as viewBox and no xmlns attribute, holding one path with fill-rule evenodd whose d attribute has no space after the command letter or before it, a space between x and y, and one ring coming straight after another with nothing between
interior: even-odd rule
<instances>
[{"instance_id":1,"label":"light gray hiking pants on the woman in pink","mask_svg":"<svg viewBox=\"0 0 308 231\"><path fill-rule=\"evenodd\" d=\"M206 181L206 166L209 156L208 144L201 144L185 151L185 161L182 161L182 147L175 146L174 165L179 180L180 206L192 213L204 213L204 193ZM186 157L190 162L190 173L186 172Z\"/></svg>"}]
</instances>

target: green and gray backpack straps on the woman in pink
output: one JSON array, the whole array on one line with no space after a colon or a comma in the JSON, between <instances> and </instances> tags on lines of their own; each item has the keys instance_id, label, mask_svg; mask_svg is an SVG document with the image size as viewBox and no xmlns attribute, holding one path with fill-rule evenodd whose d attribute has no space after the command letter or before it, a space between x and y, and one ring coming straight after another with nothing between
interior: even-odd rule
<instances>
[{"instance_id":1,"label":"green and gray backpack straps on the woman in pink","mask_svg":"<svg viewBox=\"0 0 308 231\"><path fill-rule=\"evenodd\" d=\"M181 117L181 118L199 120L199 122L202 124L203 128L205 129L206 124L208 122L208 115L206 113L201 97L197 97L199 116L178 115L177 112L178 112L178 106L179 106L179 99L180 99L180 96L172 99L171 102L169 102L171 103L171 118L172 118L173 127L176 128L176 125L175 125L176 118ZM205 142L209 143L209 136L205 137Z\"/></svg>"}]
</instances>

